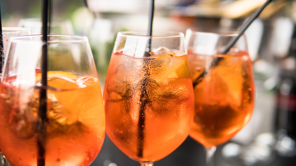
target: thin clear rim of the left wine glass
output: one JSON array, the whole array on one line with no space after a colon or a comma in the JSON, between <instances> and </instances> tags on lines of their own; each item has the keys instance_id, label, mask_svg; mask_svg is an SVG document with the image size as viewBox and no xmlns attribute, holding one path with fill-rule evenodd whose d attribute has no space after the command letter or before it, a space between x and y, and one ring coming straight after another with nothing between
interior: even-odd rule
<instances>
[{"instance_id":1,"label":"thin clear rim of the left wine glass","mask_svg":"<svg viewBox=\"0 0 296 166\"><path fill-rule=\"evenodd\" d=\"M15 43L19 41L24 41L24 42L43 42L42 40L23 40L24 38L32 39L32 37L42 37L43 35L41 34L35 34L35 35L26 35L26 36L16 36L16 37L11 37L10 42ZM54 43L54 42L87 42L88 37L86 36L80 36L80 35L70 35L70 34L48 34L47 37L70 37L76 40L52 40L48 41L49 43Z\"/></svg>"}]
</instances>

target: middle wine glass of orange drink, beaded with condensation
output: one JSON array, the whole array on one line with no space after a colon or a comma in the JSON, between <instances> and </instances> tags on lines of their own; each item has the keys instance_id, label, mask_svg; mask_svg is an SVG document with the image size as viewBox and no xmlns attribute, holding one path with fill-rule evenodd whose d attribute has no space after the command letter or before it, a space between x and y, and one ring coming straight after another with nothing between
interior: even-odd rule
<instances>
[{"instance_id":1,"label":"middle wine glass of orange drink, beaded with condensation","mask_svg":"<svg viewBox=\"0 0 296 166\"><path fill-rule=\"evenodd\" d=\"M119 32L103 99L106 133L128 157L152 166L188 136L194 114L184 34Z\"/></svg>"}]
</instances>

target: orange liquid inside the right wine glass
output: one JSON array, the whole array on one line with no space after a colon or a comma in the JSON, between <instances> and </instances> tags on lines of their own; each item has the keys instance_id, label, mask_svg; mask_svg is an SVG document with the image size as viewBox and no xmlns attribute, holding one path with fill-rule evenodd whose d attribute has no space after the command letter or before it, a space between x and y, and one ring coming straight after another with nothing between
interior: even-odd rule
<instances>
[{"instance_id":1,"label":"orange liquid inside the right wine glass","mask_svg":"<svg viewBox=\"0 0 296 166\"><path fill-rule=\"evenodd\" d=\"M223 60L194 87L195 115L189 135L205 147L234 137L248 123L254 107L252 64L247 52L205 56L189 51L193 82L217 57Z\"/></svg>"}]
</instances>

